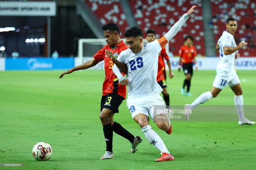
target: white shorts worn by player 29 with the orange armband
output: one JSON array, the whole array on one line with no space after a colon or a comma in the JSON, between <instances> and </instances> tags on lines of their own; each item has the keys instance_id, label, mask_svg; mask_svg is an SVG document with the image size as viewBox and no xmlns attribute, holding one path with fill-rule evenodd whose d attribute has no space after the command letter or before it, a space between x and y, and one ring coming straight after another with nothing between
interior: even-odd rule
<instances>
[{"instance_id":1,"label":"white shorts worn by player 29 with the orange armband","mask_svg":"<svg viewBox=\"0 0 256 170\"><path fill-rule=\"evenodd\" d=\"M160 94L152 93L143 97L128 98L127 107L130 110L132 118L142 113L151 117L154 122L154 105L165 105Z\"/></svg>"}]
</instances>

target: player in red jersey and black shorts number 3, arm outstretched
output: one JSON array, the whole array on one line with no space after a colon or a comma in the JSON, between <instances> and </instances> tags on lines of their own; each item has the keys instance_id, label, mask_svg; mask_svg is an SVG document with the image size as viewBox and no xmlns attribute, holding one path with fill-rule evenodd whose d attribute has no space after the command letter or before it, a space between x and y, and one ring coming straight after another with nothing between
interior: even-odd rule
<instances>
[{"instance_id":1,"label":"player in red jersey and black shorts number 3, arm outstretched","mask_svg":"<svg viewBox=\"0 0 256 170\"><path fill-rule=\"evenodd\" d=\"M100 159L113 158L112 151L112 139L113 131L120 136L128 139L131 142L130 153L137 151L138 144L142 141L140 136L133 136L125 128L123 128L118 122L114 122L114 113L118 113L118 107L121 105L126 97L126 86L120 85L117 76L113 73L112 67L113 61L105 54L105 50L112 51L117 58L121 51L128 49L128 46L120 39L120 29L117 24L109 23L102 27L104 31L104 37L107 45L100 49L93 59L86 61L85 63L71 68L64 73L61 73L59 78L62 78L65 74L70 74L73 71L85 70L87 68L97 65L100 61L105 61L105 80L102 89L102 99L100 102L100 121L103 126L103 132L106 140L106 152ZM122 70L121 70L122 71ZM123 73L124 75L124 73Z\"/></svg>"}]
</instances>

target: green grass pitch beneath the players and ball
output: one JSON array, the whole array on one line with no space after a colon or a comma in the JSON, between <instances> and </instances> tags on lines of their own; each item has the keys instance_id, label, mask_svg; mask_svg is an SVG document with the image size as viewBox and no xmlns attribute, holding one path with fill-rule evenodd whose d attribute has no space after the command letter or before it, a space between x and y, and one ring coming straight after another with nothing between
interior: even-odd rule
<instances>
[{"instance_id":1,"label":"green grass pitch beneath the players and ball","mask_svg":"<svg viewBox=\"0 0 256 170\"><path fill-rule=\"evenodd\" d=\"M0 163L23 163L23 167L0 169L254 169L256 167L256 125L239 126L235 121L173 121L167 135L150 121L175 157L171 162L155 162L160 152L145 138L123 101L114 120L128 131L142 136L138 151L130 153L129 141L114 134L114 158L100 160L106 145L99 119L104 71L76 71L62 79L59 71L0 72ZM185 76L175 71L168 79L171 105L184 105L209 91L215 71L194 73L190 92L182 96ZM256 71L238 71L244 105L255 105ZM234 93L226 87L216 99L204 105L234 105ZM215 107L218 108L218 107ZM214 110L211 110L214 114ZM216 110L218 112L218 110ZM227 113L230 114L230 113ZM238 119L237 113L234 112ZM256 121L255 110L246 112ZM193 117L193 113L191 119ZM196 114L195 114L196 117ZM52 146L47 162L36 161L32 148L38 142Z\"/></svg>"}]
</instances>

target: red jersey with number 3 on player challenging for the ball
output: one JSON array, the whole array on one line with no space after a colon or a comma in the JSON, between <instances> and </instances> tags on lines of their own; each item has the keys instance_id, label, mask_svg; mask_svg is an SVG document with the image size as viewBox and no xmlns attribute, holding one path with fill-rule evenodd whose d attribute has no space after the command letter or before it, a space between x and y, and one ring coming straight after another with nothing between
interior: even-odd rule
<instances>
[{"instance_id":1,"label":"red jersey with number 3 on player challenging for the ball","mask_svg":"<svg viewBox=\"0 0 256 170\"><path fill-rule=\"evenodd\" d=\"M128 46L126 46L123 41L121 41L115 48L111 48L111 46L106 45L93 56L97 61L105 61L104 67L106 77L103 82L102 95L115 93L125 98L126 86L119 84L117 76L112 71L114 62L107 56L107 54L105 54L105 49L107 49L107 51L112 51L115 58L117 58L121 51L128 49ZM124 73L122 74L125 75Z\"/></svg>"}]
</instances>

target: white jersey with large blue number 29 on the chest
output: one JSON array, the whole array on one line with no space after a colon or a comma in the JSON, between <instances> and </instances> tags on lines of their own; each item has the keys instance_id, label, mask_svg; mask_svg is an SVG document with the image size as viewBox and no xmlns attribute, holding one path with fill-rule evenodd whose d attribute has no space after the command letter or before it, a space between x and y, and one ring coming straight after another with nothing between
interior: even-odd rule
<instances>
[{"instance_id":1,"label":"white jersey with large blue number 29 on the chest","mask_svg":"<svg viewBox=\"0 0 256 170\"><path fill-rule=\"evenodd\" d=\"M158 53L161 49L161 45L155 40L144 45L138 53L126 49L118 55L118 60L125 63L128 68L128 98L163 91L156 81Z\"/></svg>"}]
</instances>

